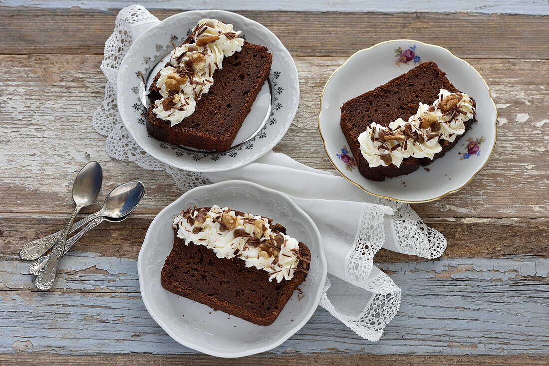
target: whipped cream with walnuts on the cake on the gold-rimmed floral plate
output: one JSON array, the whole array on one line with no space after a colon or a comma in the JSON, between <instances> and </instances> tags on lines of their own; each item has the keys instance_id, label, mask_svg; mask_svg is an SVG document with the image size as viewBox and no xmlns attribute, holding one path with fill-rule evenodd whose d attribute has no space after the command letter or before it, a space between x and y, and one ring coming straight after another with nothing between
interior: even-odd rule
<instances>
[{"instance_id":1,"label":"whipped cream with walnuts on the cake on the gold-rimmed floral plate","mask_svg":"<svg viewBox=\"0 0 549 366\"><path fill-rule=\"evenodd\" d=\"M358 136L360 151L372 168L390 164L400 167L402 160L410 156L433 159L442 150L440 140L453 142L457 135L465 133L464 122L474 115L467 94L440 89L433 104L420 102L416 114L407 122L399 118L389 127L369 124Z\"/></svg>"}]
</instances>

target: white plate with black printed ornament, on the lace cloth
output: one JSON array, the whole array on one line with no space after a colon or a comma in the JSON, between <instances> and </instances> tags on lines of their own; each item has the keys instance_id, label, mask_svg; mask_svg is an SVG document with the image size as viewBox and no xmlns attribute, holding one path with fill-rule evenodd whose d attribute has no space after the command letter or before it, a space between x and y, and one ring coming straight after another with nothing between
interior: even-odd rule
<instances>
[{"instance_id":1,"label":"white plate with black printed ornament, on the lace cloth","mask_svg":"<svg viewBox=\"0 0 549 366\"><path fill-rule=\"evenodd\" d=\"M147 105L143 106L140 85L145 81L148 91L154 76L166 64L166 55L203 18L234 24L248 42L266 46L273 55L268 79L227 151L195 150L161 142L151 137L145 126L149 102L145 98ZM282 42L258 22L223 10L179 13L150 27L133 42L122 60L116 87L120 117L139 146L166 164L195 172L231 170L266 154L288 131L299 103L298 70Z\"/></svg>"}]
</instances>

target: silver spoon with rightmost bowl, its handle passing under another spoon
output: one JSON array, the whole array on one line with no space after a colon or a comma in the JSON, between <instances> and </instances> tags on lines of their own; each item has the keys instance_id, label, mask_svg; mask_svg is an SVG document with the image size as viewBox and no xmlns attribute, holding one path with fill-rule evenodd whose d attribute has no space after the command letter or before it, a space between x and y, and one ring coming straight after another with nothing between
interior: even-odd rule
<instances>
[{"instance_id":1,"label":"silver spoon with rightmost bowl, its handle passing under another spoon","mask_svg":"<svg viewBox=\"0 0 549 366\"><path fill-rule=\"evenodd\" d=\"M124 221L128 216L131 215L133 210L139 204L139 201L143 198L145 193L145 186L139 181L127 182L120 184L105 198L103 208L98 211L102 212L102 215L95 218L92 222L88 223L85 228L80 230L74 237L66 241L63 254L65 255L71 249L71 246L76 243L76 240L80 239L82 235L86 234L89 230L98 226L103 221L109 222L121 222ZM122 215L119 217L119 215ZM36 263L33 263L29 268L30 274L38 275L40 271L46 266L46 263L49 259L49 254L38 258Z\"/></svg>"}]
</instances>

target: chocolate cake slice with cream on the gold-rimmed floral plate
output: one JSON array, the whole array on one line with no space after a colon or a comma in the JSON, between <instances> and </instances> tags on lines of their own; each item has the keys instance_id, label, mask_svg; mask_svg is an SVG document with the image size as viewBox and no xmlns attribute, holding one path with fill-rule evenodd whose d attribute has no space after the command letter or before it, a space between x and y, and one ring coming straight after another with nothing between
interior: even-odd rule
<instances>
[{"instance_id":1,"label":"chocolate cake slice with cream on the gold-rimmed floral plate","mask_svg":"<svg viewBox=\"0 0 549 366\"><path fill-rule=\"evenodd\" d=\"M383 181L444 156L476 121L474 108L426 62L343 104L340 126L358 171Z\"/></svg>"}]
</instances>

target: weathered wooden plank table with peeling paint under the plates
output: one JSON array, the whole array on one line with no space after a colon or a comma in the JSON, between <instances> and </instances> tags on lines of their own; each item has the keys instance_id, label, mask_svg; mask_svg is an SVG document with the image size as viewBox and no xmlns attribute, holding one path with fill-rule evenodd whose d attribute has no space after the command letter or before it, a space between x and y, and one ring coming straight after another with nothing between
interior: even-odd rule
<instances>
[{"instance_id":1,"label":"weathered wooden plank table with peeling paint under the plates","mask_svg":"<svg viewBox=\"0 0 549 366\"><path fill-rule=\"evenodd\" d=\"M274 3L254 4L271 9ZM362 3L379 10L375 2ZM300 108L275 150L309 166L333 169L317 132L324 82L349 55L380 41L414 38L449 48L484 76L500 117L483 172L461 192L413 205L446 236L444 256L424 261L382 250L376 257L403 294L379 342L361 339L318 308L282 346L229 362L174 342L139 296L136 260L145 231L182 192L164 172L110 159L105 138L89 123L103 99L99 65L117 14L105 8L120 5L2 2L0 364L547 364L549 17L487 14L483 4L490 2L479 3L472 10L484 13L240 12L275 32L295 59ZM540 14L547 8L537 1L502 3L491 9ZM463 2L455 5L463 10ZM152 12L164 19L177 10ZM147 193L127 221L83 237L61 261L55 290L38 292L18 252L63 227L73 209L72 180L90 160L103 165L104 187L81 217L99 209L121 182L141 179Z\"/></svg>"}]
</instances>

